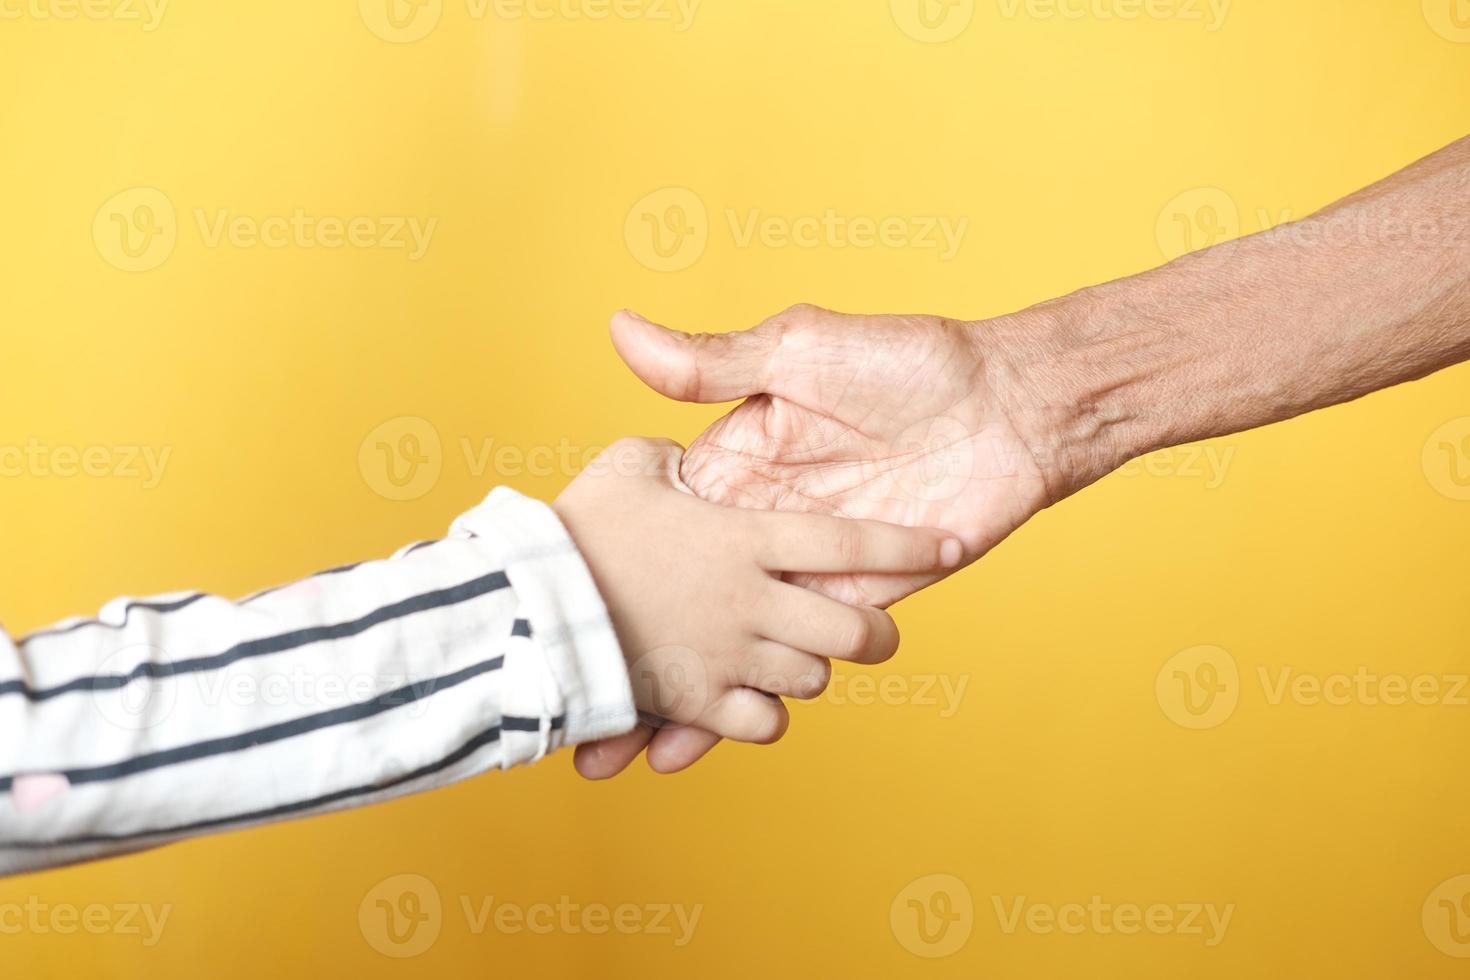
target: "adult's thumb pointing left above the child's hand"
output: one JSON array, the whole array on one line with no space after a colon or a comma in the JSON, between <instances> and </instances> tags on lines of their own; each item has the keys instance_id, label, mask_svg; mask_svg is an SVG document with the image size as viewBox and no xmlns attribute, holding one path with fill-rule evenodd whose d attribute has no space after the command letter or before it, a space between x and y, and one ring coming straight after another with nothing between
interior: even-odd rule
<instances>
[{"instance_id":1,"label":"adult's thumb pointing left above the child's hand","mask_svg":"<svg viewBox=\"0 0 1470 980\"><path fill-rule=\"evenodd\" d=\"M756 328L681 334L629 310L613 316L613 347L645 385L678 401L735 401L764 391L772 345Z\"/></svg>"}]
</instances>

